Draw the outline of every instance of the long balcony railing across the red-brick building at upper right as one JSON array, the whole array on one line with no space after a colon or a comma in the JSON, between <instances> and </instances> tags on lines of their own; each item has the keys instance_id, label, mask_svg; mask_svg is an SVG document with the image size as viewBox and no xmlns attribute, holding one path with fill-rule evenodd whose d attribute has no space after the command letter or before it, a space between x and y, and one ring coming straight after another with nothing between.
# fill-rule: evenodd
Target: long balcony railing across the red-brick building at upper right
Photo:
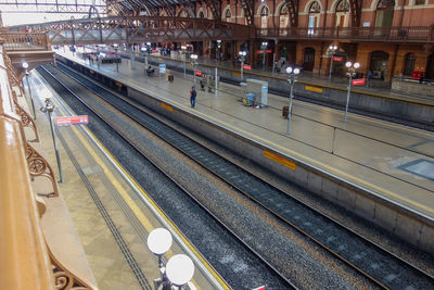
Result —
<instances>
[{"instance_id":1,"label":"long balcony railing across the red-brick building at upper right","mask_svg":"<svg viewBox=\"0 0 434 290\"><path fill-rule=\"evenodd\" d=\"M427 42L434 40L434 28L432 26L257 28L256 37Z\"/></svg>"}]
</instances>

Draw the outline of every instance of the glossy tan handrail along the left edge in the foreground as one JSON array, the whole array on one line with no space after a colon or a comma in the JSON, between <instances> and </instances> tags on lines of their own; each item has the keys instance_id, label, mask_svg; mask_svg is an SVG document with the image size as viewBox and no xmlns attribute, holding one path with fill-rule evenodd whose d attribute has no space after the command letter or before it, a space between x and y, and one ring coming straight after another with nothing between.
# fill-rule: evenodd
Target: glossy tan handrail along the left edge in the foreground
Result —
<instances>
[{"instance_id":1,"label":"glossy tan handrail along the left edge in the foreground","mask_svg":"<svg viewBox=\"0 0 434 290\"><path fill-rule=\"evenodd\" d=\"M2 289L54 289L1 43L0 84L0 285Z\"/></svg>"}]
</instances>

